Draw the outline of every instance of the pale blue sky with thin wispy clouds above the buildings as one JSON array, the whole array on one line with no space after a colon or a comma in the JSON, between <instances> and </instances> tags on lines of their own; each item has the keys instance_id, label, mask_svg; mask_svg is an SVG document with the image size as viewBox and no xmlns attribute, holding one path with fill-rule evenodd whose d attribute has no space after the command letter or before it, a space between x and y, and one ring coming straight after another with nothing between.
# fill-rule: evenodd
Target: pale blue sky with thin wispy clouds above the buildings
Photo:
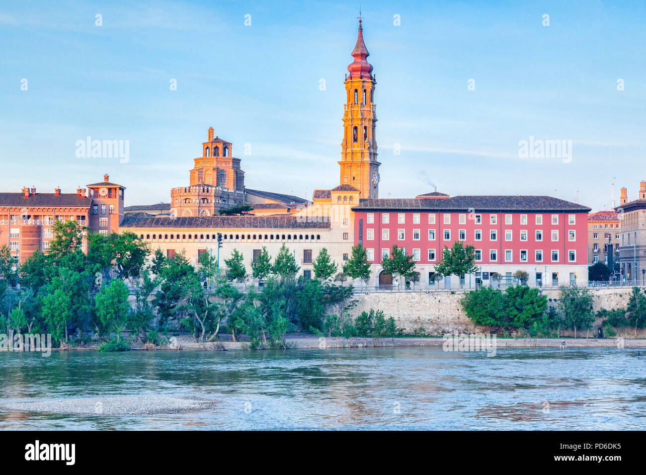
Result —
<instances>
[{"instance_id":1,"label":"pale blue sky with thin wispy clouds above the buildings","mask_svg":"<svg viewBox=\"0 0 646 475\"><path fill-rule=\"evenodd\" d=\"M360 8L380 197L437 187L596 211L612 206L614 183L615 204L623 186L637 198L646 2ZM108 173L126 206L168 202L209 127L233 143L249 188L335 187L358 14L348 1L0 3L0 191L74 192ZM127 162L77 156L88 136L128 141ZM522 156L523 140L565 140L571 154Z\"/></svg>"}]
</instances>

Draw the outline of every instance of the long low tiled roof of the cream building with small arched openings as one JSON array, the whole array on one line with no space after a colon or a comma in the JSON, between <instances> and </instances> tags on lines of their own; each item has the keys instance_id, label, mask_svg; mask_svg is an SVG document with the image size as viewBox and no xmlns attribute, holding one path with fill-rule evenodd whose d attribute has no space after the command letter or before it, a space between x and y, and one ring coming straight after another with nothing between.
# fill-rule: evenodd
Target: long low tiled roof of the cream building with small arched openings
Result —
<instances>
[{"instance_id":1,"label":"long low tiled roof of the cream building with small arched openings","mask_svg":"<svg viewBox=\"0 0 646 475\"><path fill-rule=\"evenodd\" d=\"M182 218L133 218L126 215L120 227L193 229L329 229L329 218L308 220L301 216L183 216Z\"/></svg>"}]
</instances>

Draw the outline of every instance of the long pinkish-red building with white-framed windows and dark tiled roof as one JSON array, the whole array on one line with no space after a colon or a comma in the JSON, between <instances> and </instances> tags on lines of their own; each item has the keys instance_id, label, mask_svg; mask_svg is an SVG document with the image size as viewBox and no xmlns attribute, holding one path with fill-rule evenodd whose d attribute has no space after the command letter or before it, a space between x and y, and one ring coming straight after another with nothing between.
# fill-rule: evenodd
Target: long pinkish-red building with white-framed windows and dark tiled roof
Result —
<instances>
[{"instance_id":1,"label":"long pinkish-red building with white-framed windows and dark tiled roof","mask_svg":"<svg viewBox=\"0 0 646 475\"><path fill-rule=\"evenodd\" d=\"M393 244L417 262L422 288L510 284L517 270L528 284L587 286L589 207L552 196L449 196L434 191L416 198L363 200L355 211L355 244L373 263L374 284L388 285L382 255ZM475 248L481 268L472 276L435 282L435 264L444 246L462 242ZM491 279L496 273L498 279Z\"/></svg>"}]
</instances>

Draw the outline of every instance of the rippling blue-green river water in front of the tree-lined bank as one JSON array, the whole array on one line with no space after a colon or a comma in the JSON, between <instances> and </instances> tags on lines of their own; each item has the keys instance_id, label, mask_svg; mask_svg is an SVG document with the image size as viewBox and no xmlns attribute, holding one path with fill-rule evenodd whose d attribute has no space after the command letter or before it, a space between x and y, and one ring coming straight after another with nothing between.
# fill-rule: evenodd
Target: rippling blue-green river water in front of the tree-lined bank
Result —
<instances>
[{"instance_id":1,"label":"rippling blue-green river water in front of the tree-lined bank","mask_svg":"<svg viewBox=\"0 0 646 475\"><path fill-rule=\"evenodd\" d=\"M0 428L634 430L646 427L645 371L637 350L614 348L513 348L495 357L440 347L0 353L4 402L216 401L207 410L154 416L0 410Z\"/></svg>"}]
</instances>

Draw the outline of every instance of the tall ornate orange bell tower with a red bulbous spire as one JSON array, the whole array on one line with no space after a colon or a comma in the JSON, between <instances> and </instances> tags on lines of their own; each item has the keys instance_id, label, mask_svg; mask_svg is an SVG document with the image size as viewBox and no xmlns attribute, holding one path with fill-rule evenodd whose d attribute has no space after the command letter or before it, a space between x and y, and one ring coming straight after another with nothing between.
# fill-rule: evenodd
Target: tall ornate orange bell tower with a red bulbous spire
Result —
<instances>
[{"instance_id":1,"label":"tall ornate orange bell tower with a red bulbous spire","mask_svg":"<svg viewBox=\"0 0 646 475\"><path fill-rule=\"evenodd\" d=\"M375 76L368 63L370 53L363 41L359 18L359 36L352 50L354 61L346 74L346 104L343 114L343 142L341 142L341 184L357 187L360 198L379 198L379 165L375 127Z\"/></svg>"}]
</instances>

